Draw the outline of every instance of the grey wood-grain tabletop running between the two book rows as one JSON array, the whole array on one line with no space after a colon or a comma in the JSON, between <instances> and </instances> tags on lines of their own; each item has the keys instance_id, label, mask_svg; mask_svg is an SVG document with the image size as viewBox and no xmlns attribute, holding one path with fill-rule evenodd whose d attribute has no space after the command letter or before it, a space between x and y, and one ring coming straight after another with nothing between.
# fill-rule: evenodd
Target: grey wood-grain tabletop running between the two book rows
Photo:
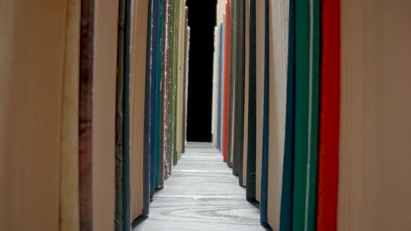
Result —
<instances>
[{"instance_id":1,"label":"grey wood-grain tabletop running between the two book rows","mask_svg":"<svg viewBox=\"0 0 411 231\"><path fill-rule=\"evenodd\" d=\"M188 143L165 187L155 193L150 216L136 230L265 230L245 189L208 143Z\"/></svg>"}]
</instances>

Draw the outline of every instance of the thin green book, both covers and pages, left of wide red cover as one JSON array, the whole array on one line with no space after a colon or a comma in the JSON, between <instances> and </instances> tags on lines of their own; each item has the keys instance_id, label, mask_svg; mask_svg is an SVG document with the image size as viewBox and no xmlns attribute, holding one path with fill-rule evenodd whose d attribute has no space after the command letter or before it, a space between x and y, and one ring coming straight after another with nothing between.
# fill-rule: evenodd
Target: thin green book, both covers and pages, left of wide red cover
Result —
<instances>
[{"instance_id":1,"label":"thin green book, both covers and pages, left of wide red cover","mask_svg":"<svg viewBox=\"0 0 411 231\"><path fill-rule=\"evenodd\" d=\"M320 84L320 3L296 2L293 230L315 230Z\"/></svg>"}]
</instances>

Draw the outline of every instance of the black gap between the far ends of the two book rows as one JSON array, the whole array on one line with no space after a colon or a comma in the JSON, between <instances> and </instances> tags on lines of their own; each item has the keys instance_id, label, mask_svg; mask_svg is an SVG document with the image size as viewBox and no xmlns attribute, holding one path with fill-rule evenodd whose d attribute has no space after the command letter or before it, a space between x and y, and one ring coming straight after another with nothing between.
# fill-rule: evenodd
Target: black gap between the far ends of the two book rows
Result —
<instances>
[{"instance_id":1,"label":"black gap between the far ends of the two book rows","mask_svg":"<svg viewBox=\"0 0 411 231\"><path fill-rule=\"evenodd\" d=\"M187 141L211 141L216 0L187 0L190 27Z\"/></svg>"}]
</instances>

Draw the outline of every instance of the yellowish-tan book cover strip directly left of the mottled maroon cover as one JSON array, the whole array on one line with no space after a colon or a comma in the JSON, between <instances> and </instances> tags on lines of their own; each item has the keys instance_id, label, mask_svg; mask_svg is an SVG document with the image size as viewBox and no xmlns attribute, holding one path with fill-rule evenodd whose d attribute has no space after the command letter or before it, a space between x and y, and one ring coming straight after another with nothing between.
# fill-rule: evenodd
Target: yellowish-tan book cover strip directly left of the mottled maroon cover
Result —
<instances>
[{"instance_id":1,"label":"yellowish-tan book cover strip directly left of the mottled maroon cover","mask_svg":"<svg viewBox=\"0 0 411 231\"><path fill-rule=\"evenodd\" d=\"M61 102L60 230L78 231L79 223L79 0L67 3L65 63Z\"/></svg>"}]
</instances>

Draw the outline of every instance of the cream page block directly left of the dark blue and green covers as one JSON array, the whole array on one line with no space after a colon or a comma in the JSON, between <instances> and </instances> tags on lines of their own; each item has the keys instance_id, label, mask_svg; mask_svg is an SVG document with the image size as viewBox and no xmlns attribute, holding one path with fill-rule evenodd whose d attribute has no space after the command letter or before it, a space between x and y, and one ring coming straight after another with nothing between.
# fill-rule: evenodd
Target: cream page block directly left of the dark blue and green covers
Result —
<instances>
[{"instance_id":1,"label":"cream page block directly left of the dark blue and green covers","mask_svg":"<svg viewBox=\"0 0 411 231\"><path fill-rule=\"evenodd\" d=\"M279 230L286 134L288 0L270 0L270 132L267 218Z\"/></svg>"}]
</instances>

